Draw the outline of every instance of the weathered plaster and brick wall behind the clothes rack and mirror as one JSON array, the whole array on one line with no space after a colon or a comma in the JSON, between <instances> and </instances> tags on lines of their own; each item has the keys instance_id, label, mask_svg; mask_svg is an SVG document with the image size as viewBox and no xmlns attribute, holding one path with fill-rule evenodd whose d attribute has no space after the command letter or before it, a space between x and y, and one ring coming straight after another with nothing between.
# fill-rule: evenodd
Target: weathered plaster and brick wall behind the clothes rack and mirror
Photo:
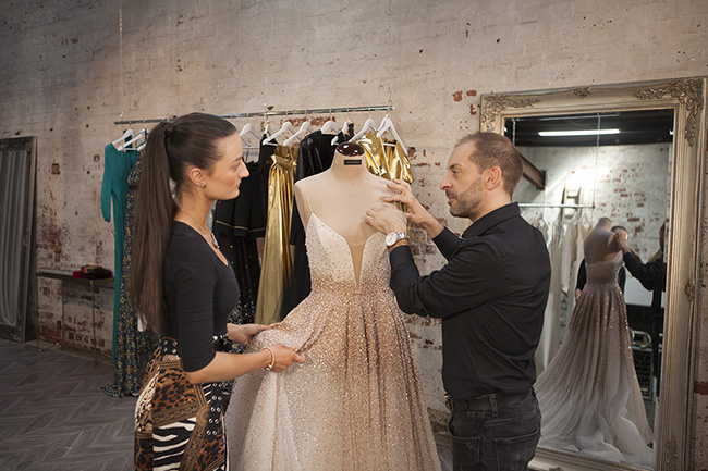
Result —
<instances>
[{"instance_id":1,"label":"weathered plaster and brick wall behind the clothes rack and mirror","mask_svg":"<svg viewBox=\"0 0 708 471\"><path fill-rule=\"evenodd\" d=\"M708 74L705 0L28 0L3 2L0 25L0 137L38 138L37 264L54 269L113 265L99 195L102 149L122 134L113 124L121 117L392 99L416 195L462 232L466 222L449 216L437 186L454 141L478 128L481 94ZM352 114L358 124L368 117ZM705 240L705 219L701 228ZM425 234L413 241L424 273L442 264ZM705 313L708 265L700 274ZM45 338L58 335L58 289L40 282ZM88 346L82 296L70 295L66 309L77 343ZM98 348L110 350L110 296L98 303ZM706 323L703 314L697 405L708 395ZM439 325L415 318L408 325L428 405L442 410ZM708 449L705 409L696 419L694 449ZM708 469L705 453L695 453L693 469Z\"/></svg>"}]
</instances>

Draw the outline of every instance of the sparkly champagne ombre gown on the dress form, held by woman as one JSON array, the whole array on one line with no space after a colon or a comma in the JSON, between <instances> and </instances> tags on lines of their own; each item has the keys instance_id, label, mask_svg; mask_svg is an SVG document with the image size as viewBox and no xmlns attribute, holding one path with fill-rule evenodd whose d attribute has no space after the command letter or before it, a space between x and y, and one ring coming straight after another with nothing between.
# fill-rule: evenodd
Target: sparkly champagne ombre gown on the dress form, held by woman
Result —
<instances>
[{"instance_id":1,"label":"sparkly champagne ombre gown on the dress form, held by woman","mask_svg":"<svg viewBox=\"0 0 708 471\"><path fill-rule=\"evenodd\" d=\"M349 244L313 214L312 292L248 351L276 343L305 356L282 373L235 381L227 410L236 470L439 470L408 332L391 294L383 234ZM358 280L357 280L358 278Z\"/></svg>"}]
</instances>

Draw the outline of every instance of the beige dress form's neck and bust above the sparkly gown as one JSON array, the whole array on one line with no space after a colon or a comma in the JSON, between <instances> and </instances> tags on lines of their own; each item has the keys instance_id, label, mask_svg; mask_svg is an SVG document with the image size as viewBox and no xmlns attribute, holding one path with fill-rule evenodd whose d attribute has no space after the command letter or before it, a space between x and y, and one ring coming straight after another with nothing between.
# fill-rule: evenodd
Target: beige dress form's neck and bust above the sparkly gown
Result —
<instances>
[{"instance_id":1,"label":"beige dress form's neck and bust above the sparkly gown","mask_svg":"<svg viewBox=\"0 0 708 471\"><path fill-rule=\"evenodd\" d=\"M316 214L342 236L349 244L357 277L364 246L376 234L364 216L389 195L387 181L368 171L364 148L355 142L340 144L328 170L295 183L295 203L303 225L306 227Z\"/></svg>"}]
</instances>

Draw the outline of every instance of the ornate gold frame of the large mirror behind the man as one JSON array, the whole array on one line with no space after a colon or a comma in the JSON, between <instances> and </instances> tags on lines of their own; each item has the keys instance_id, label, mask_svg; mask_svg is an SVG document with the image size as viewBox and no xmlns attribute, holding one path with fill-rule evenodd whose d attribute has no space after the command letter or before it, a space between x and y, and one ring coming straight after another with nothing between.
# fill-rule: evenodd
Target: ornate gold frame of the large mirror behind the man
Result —
<instances>
[{"instance_id":1,"label":"ornate gold frame of the large mirror behind the man","mask_svg":"<svg viewBox=\"0 0 708 471\"><path fill-rule=\"evenodd\" d=\"M699 307L700 221L706 215L701 168L706 149L706 77L492 94L481 97L480 131L503 134L504 120L520 116L630 110L674 110L661 400L655 426L655 469L688 470L694 419L694 367ZM538 448L532 469L636 469Z\"/></svg>"}]
</instances>

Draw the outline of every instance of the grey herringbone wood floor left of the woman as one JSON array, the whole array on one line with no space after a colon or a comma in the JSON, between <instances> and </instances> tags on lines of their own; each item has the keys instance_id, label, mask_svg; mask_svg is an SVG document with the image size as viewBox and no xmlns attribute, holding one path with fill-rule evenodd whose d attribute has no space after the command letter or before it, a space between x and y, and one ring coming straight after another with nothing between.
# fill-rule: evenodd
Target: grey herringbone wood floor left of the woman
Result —
<instances>
[{"instance_id":1,"label":"grey herringbone wood floor left of the woman","mask_svg":"<svg viewBox=\"0 0 708 471\"><path fill-rule=\"evenodd\" d=\"M0 470L132 470L136 399L105 395L112 379L110 361L0 339Z\"/></svg>"}]
</instances>

